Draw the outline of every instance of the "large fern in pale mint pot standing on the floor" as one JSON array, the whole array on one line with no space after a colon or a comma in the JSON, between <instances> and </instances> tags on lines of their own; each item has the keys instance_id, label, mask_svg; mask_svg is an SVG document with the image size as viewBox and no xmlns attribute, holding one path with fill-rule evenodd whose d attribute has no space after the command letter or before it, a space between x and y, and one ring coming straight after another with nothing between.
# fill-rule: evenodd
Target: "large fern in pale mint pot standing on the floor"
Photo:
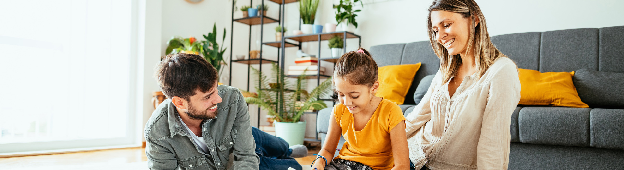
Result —
<instances>
[{"instance_id":1,"label":"large fern in pale mint pot standing on the floor","mask_svg":"<svg viewBox=\"0 0 624 170\"><path fill-rule=\"evenodd\" d=\"M331 78L320 83L310 93L302 90L306 87L306 75L297 77L296 83L286 81L286 75L277 64L273 64L272 81L279 82L277 88L270 88L266 75L259 70L250 67L255 75L260 78L256 82L258 97L245 97L245 102L255 104L268 111L269 116L274 116L275 136L283 138L290 146L303 144L306 123L300 121L301 116L307 110L321 110L327 105L322 100L316 100L319 95L328 93L331 87ZM290 90L289 90L290 89Z\"/></svg>"}]
</instances>

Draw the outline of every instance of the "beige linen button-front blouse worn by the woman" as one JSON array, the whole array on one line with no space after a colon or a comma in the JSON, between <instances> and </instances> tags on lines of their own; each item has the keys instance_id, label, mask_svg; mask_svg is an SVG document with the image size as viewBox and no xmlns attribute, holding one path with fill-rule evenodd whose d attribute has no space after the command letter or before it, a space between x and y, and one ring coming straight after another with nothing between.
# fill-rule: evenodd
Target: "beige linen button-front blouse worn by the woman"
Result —
<instances>
[{"instance_id":1,"label":"beige linen button-front blouse worn by the woman","mask_svg":"<svg viewBox=\"0 0 624 170\"><path fill-rule=\"evenodd\" d=\"M438 71L407 115L409 158L416 169L507 169L511 115L520 102L518 70L500 57L477 78L466 76L449 97L449 83L442 84Z\"/></svg>"}]
</instances>

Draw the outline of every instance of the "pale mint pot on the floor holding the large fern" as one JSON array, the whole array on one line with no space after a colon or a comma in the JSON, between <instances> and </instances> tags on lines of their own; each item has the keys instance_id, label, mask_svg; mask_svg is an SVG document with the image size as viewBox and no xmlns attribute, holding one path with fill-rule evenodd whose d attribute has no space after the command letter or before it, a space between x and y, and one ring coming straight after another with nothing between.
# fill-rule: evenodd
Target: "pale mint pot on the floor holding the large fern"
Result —
<instances>
[{"instance_id":1,"label":"pale mint pot on the floor holding the large fern","mask_svg":"<svg viewBox=\"0 0 624 170\"><path fill-rule=\"evenodd\" d=\"M284 139L288 146L303 144L303 137L306 134L306 122L282 123L273 121L275 126L275 136Z\"/></svg>"}]
</instances>

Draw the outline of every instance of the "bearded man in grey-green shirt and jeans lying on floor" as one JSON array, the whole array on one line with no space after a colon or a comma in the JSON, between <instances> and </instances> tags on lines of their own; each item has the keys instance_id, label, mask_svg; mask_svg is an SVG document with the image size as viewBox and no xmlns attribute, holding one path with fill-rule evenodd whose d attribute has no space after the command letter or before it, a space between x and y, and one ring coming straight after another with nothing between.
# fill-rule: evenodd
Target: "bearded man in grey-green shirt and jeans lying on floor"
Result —
<instances>
[{"instance_id":1,"label":"bearded man in grey-green shirt and jeans lying on floor","mask_svg":"<svg viewBox=\"0 0 624 170\"><path fill-rule=\"evenodd\" d=\"M150 169L301 169L290 156L307 156L305 146L293 150L251 128L241 93L217 85L217 70L200 55L168 55L157 77L168 99L145 125Z\"/></svg>"}]
</instances>

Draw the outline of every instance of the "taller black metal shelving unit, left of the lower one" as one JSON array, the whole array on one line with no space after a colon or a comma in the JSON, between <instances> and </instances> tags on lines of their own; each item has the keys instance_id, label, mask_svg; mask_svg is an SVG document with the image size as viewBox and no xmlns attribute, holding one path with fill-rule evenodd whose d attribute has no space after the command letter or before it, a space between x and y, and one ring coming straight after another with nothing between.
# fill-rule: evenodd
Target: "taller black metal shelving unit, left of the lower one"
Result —
<instances>
[{"instance_id":1,"label":"taller black metal shelving unit, left of the lower one","mask_svg":"<svg viewBox=\"0 0 624 170\"><path fill-rule=\"evenodd\" d=\"M291 3L291 2L297 2L297 0L260 0L261 4L260 6L265 6L265 1L271 1L271 2L275 2L276 4L278 4L280 6L280 11L278 12L279 17L278 19L274 19L272 17L267 17L263 14L263 11L258 10L258 16L253 16L253 17L243 17L243 18L238 18L238 19L234 19L234 12L235 12L235 1L232 1L232 25L230 27L230 34L232 34L232 36L230 36L230 80L229 80L229 85L232 86L232 63L233 62L237 62L237 63L241 63L241 64L247 64L247 91L250 91L250 66L251 64L258 64L259 68L258 70L260 70L260 72L262 72L262 65L263 64L271 64L271 63L280 63L280 52L283 52L283 50L280 51L280 49L284 49L285 47L299 47L301 49L301 45L300 44L293 44L290 42L286 42L283 43L283 36L282 36L282 41L277 41L277 42L263 42L263 33L264 33L264 26L265 24L271 24L271 23L278 23L280 24L280 26L282 27L282 35L284 35L284 11L283 8L285 7L285 4ZM253 0L250 0L249 2L249 6L253 6ZM260 54L258 55L258 59L243 59L243 60L233 60L233 45L234 45L234 22L238 22L241 24L246 24L249 26L249 42L248 42L248 49L247 49L247 54L248 56L250 56L250 52L251 52L251 27L252 26L260 26L260 42L263 42L260 45ZM286 44L286 45L283 45ZM278 57L277 60L269 60L269 59L263 59L262 56L262 52L263 52L263 45L269 45L269 46L273 46L273 47L277 47L277 52L278 52ZM258 78L258 82L260 82L260 78ZM261 108L258 107L258 128L260 128L260 111Z\"/></svg>"}]
</instances>

